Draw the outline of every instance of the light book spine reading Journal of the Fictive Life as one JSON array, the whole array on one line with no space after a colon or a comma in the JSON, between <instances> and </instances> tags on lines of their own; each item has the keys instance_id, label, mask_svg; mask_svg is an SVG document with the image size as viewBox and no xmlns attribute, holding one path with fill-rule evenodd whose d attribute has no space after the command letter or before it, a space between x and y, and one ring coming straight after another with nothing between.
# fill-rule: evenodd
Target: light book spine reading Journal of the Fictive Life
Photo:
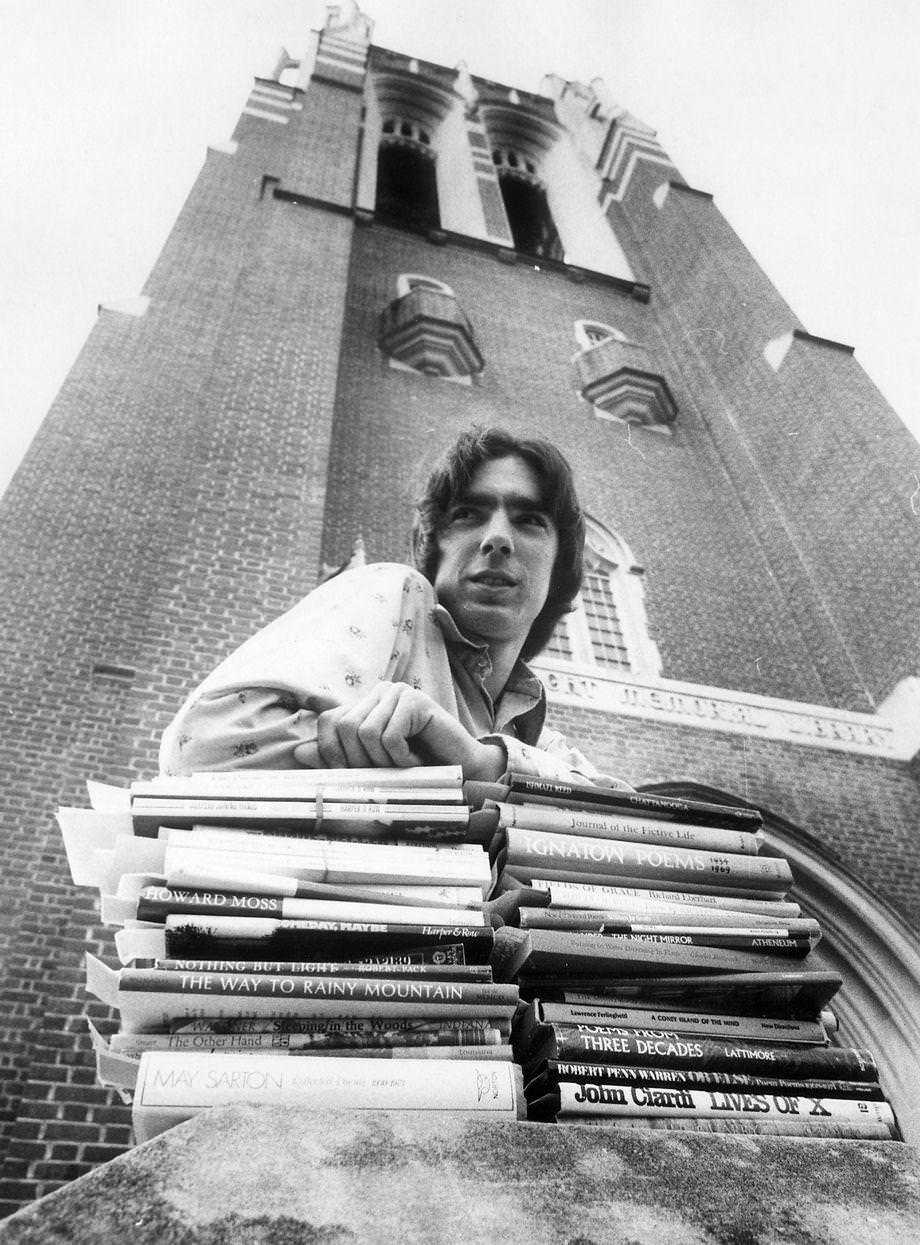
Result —
<instances>
[{"instance_id":1,"label":"light book spine reading Journal of the Fictive Life","mask_svg":"<svg viewBox=\"0 0 920 1245\"><path fill-rule=\"evenodd\" d=\"M550 830L556 834L583 834L595 839L655 843L743 855L757 855L761 847L761 839L756 834L726 830L715 825L692 825L646 817L617 817L613 813L583 813L539 804L498 803L495 807L502 829L518 827L528 830Z\"/></svg>"}]
</instances>

